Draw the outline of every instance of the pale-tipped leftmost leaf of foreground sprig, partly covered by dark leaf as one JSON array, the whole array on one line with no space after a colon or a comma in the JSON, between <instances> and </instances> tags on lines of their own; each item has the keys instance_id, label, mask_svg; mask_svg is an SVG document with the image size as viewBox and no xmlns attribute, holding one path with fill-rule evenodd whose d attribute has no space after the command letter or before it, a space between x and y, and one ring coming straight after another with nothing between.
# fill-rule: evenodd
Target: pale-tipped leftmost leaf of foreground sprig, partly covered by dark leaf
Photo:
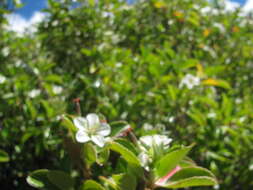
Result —
<instances>
[{"instance_id":1,"label":"pale-tipped leftmost leaf of foreground sprig, partly covered by dark leaf","mask_svg":"<svg viewBox=\"0 0 253 190\"><path fill-rule=\"evenodd\" d=\"M58 190L59 188L57 188L55 185L53 185L48 177L49 170L47 169L40 169L40 170L36 170L33 171L27 178L26 181L29 185L31 185L32 187L38 188L38 189L54 189L54 190Z\"/></svg>"}]
</instances>

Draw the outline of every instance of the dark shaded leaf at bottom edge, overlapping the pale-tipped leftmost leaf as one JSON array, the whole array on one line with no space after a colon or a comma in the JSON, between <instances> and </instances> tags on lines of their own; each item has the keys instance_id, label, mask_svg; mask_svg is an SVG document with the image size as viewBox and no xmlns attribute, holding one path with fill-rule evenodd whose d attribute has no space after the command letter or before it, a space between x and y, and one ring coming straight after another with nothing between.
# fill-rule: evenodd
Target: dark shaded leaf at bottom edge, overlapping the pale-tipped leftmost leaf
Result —
<instances>
[{"instance_id":1,"label":"dark shaded leaf at bottom edge, overlapping the pale-tipped leftmost leaf","mask_svg":"<svg viewBox=\"0 0 253 190\"><path fill-rule=\"evenodd\" d=\"M62 190L72 190L74 188L74 181L69 174L63 171L49 171L47 173L49 181Z\"/></svg>"}]
</instances>

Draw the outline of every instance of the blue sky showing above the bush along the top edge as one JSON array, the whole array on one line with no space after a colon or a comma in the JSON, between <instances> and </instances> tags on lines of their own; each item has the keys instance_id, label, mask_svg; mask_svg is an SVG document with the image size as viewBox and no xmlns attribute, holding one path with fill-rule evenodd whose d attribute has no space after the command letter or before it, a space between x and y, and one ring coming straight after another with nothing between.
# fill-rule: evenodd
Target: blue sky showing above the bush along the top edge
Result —
<instances>
[{"instance_id":1,"label":"blue sky showing above the bush along the top edge","mask_svg":"<svg viewBox=\"0 0 253 190\"><path fill-rule=\"evenodd\" d=\"M247 0L231 0L231 1L238 2L243 5ZM25 6L17 10L16 13L20 14L26 19L31 18L34 12L45 8L47 5L47 0L22 0L22 2L25 4Z\"/></svg>"}]
</instances>

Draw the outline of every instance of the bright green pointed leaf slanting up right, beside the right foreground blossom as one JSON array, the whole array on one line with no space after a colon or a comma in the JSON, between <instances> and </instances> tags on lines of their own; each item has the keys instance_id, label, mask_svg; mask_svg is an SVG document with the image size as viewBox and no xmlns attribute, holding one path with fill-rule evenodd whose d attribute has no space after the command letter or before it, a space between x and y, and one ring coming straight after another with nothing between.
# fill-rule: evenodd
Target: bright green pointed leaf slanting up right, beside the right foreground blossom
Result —
<instances>
[{"instance_id":1,"label":"bright green pointed leaf slanting up right, beside the right foreground blossom","mask_svg":"<svg viewBox=\"0 0 253 190\"><path fill-rule=\"evenodd\" d=\"M158 178L165 176L174 169L192 149L193 145L172 151L161 158L155 165Z\"/></svg>"}]
</instances>

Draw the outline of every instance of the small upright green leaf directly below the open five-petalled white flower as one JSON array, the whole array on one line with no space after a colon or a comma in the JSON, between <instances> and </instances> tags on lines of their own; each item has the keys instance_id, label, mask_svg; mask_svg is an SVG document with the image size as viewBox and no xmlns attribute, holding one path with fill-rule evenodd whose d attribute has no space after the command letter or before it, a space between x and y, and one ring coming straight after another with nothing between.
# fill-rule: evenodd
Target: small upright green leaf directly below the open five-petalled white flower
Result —
<instances>
[{"instance_id":1,"label":"small upright green leaf directly below the open five-petalled white flower","mask_svg":"<svg viewBox=\"0 0 253 190\"><path fill-rule=\"evenodd\" d=\"M88 165L92 165L97 160L97 151L91 143L83 145L82 158Z\"/></svg>"}]
</instances>

